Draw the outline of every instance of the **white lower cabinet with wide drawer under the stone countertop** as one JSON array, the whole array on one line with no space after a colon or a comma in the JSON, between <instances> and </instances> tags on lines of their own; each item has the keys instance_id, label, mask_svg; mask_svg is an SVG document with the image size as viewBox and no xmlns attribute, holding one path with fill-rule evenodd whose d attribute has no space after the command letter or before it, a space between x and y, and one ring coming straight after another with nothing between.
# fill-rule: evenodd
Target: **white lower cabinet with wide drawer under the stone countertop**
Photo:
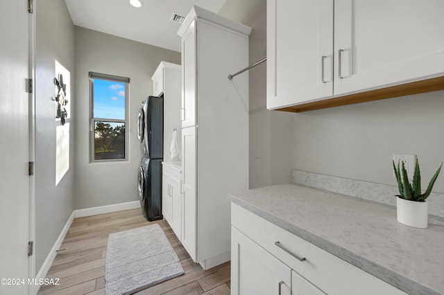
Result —
<instances>
[{"instance_id":1,"label":"white lower cabinet with wide drawer under the stone countertop","mask_svg":"<svg viewBox=\"0 0 444 295\"><path fill-rule=\"evenodd\" d=\"M407 295L233 204L231 295Z\"/></svg>"}]
</instances>

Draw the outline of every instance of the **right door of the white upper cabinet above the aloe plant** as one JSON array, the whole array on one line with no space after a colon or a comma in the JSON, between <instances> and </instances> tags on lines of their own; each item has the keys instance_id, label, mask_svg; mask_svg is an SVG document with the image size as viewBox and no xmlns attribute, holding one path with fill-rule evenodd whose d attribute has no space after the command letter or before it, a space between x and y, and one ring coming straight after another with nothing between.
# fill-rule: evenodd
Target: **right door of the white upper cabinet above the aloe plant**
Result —
<instances>
[{"instance_id":1,"label":"right door of the white upper cabinet above the aloe plant","mask_svg":"<svg viewBox=\"0 0 444 295\"><path fill-rule=\"evenodd\" d=\"M334 1L334 94L443 75L443 11L441 0Z\"/></svg>"}]
</instances>

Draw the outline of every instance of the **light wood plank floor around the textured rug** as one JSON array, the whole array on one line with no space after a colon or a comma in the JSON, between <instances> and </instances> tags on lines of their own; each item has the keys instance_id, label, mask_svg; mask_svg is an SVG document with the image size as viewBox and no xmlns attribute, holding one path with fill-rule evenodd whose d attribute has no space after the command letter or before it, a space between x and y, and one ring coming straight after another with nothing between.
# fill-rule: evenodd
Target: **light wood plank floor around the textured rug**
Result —
<instances>
[{"instance_id":1,"label":"light wood plank floor around the textured rug","mask_svg":"<svg viewBox=\"0 0 444 295\"><path fill-rule=\"evenodd\" d=\"M110 233L159 224L178 254L185 274L149 287L137 295L230 294L230 262L204 271L185 251L164 220L148 222L140 209L76 218L63 240L46 278L60 278L60 285L42 286L44 294L105 294L106 244Z\"/></svg>"}]
</instances>

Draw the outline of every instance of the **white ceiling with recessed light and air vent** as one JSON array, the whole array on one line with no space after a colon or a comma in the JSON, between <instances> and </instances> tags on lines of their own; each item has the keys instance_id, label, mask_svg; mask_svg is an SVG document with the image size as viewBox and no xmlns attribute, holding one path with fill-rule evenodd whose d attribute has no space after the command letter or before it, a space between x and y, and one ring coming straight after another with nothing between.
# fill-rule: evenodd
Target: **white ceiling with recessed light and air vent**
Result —
<instances>
[{"instance_id":1,"label":"white ceiling with recessed light and air vent","mask_svg":"<svg viewBox=\"0 0 444 295\"><path fill-rule=\"evenodd\" d=\"M98 30L137 42L180 51L180 24L170 21L173 12L187 16L193 5L218 12L226 0L65 0L76 26Z\"/></svg>"}]
</instances>

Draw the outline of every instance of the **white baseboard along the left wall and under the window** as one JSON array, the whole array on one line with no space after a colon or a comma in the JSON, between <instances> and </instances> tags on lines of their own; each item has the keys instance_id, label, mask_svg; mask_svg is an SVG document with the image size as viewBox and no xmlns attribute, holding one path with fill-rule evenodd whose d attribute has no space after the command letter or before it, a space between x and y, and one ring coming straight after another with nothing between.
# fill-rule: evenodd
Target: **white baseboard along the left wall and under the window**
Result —
<instances>
[{"instance_id":1,"label":"white baseboard along the left wall and under the window","mask_svg":"<svg viewBox=\"0 0 444 295\"><path fill-rule=\"evenodd\" d=\"M48 256L44 260L43 265L42 265L42 267L40 267L40 271L38 272L38 274L35 278L37 280L40 278L42 278L42 279L46 278L46 274L48 274L49 268L53 264L54 258L56 258L56 255L57 255L56 250L58 250L60 248L60 245L62 244L63 239L65 239L65 235L67 235L67 232L69 230L69 226L71 226L72 222L74 221L74 218L99 215L99 214L103 214L103 213L111 213L111 212L117 212L117 211L123 211L123 210L130 210L130 209L135 209L135 208L140 208L139 201L74 210L73 213L71 214L71 216L69 216L67 223L63 227L62 232L60 232L60 235L58 236L56 242L54 243L51 251L49 251ZM35 289L33 290L33 294L37 294L39 289L40 289L40 286L35 285Z\"/></svg>"}]
</instances>

